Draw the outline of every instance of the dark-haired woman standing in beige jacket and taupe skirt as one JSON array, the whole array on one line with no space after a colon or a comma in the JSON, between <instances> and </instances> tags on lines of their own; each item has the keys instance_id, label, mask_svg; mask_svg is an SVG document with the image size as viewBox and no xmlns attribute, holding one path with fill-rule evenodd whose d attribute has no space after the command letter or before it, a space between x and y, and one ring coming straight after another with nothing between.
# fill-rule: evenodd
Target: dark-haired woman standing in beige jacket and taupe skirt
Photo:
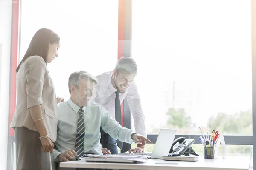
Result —
<instances>
[{"instance_id":1,"label":"dark-haired woman standing in beige jacket and taupe skirt","mask_svg":"<svg viewBox=\"0 0 256 170\"><path fill-rule=\"evenodd\" d=\"M16 69L17 104L11 127L15 129L17 170L54 167L49 154L56 141L57 100L47 63L58 57L59 43L60 37L52 30L38 30Z\"/></svg>"}]
</instances>

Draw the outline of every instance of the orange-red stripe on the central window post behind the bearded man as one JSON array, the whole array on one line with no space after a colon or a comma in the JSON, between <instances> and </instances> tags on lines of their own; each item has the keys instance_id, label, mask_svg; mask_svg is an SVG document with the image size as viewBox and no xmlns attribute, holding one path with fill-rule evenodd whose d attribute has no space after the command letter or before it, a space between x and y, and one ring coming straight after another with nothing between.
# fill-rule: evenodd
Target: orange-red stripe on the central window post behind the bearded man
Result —
<instances>
[{"instance_id":1,"label":"orange-red stripe on the central window post behind the bearded man","mask_svg":"<svg viewBox=\"0 0 256 170\"><path fill-rule=\"evenodd\" d=\"M124 39L125 39L125 0L118 1L118 50L117 59L124 57ZM121 104L121 120L123 126L124 105Z\"/></svg>"}]
</instances>

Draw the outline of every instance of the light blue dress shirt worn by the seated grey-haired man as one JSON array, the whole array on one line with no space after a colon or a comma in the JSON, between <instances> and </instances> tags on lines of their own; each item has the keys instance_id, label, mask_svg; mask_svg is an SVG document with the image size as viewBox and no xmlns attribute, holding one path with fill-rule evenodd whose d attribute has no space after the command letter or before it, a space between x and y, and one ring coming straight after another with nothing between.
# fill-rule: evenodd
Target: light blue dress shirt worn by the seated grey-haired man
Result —
<instances>
[{"instance_id":1,"label":"light blue dress shirt worn by the seated grey-haired man","mask_svg":"<svg viewBox=\"0 0 256 170\"><path fill-rule=\"evenodd\" d=\"M75 150L77 120L80 107L72 102L71 99L57 105L58 127L57 140L55 142L54 159L66 150ZM131 139L133 130L122 127L116 122L108 111L96 102L90 101L84 109L84 151L85 153L102 154L100 144L100 127L113 139L127 143L134 143Z\"/></svg>"}]
</instances>

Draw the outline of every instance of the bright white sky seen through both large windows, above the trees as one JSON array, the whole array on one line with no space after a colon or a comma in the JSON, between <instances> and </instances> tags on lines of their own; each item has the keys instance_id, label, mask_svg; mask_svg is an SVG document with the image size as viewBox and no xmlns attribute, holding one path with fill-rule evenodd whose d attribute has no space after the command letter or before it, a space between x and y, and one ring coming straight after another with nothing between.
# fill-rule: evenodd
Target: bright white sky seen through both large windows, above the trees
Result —
<instances>
[{"instance_id":1,"label":"bright white sky seen through both large windows, above the trees","mask_svg":"<svg viewBox=\"0 0 256 170\"><path fill-rule=\"evenodd\" d=\"M73 71L113 70L118 0L23 0L21 7L21 57L38 29L61 37L48 65L58 96L69 98ZM135 81L148 127L166 122L173 81L175 106L198 126L218 112L251 108L250 0L134 0L132 8Z\"/></svg>"}]
</instances>

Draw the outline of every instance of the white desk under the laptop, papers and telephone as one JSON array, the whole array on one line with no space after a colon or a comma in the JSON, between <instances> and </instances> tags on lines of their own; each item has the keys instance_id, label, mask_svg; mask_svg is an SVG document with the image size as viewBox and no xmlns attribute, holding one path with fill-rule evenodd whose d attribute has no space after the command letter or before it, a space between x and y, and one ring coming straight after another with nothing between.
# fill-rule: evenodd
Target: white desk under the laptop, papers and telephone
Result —
<instances>
[{"instance_id":1,"label":"white desk under the laptop, papers and telephone","mask_svg":"<svg viewBox=\"0 0 256 170\"><path fill-rule=\"evenodd\" d=\"M226 156L225 159L204 159L199 156L196 162L174 161L174 164L155 164L161 159L149 159L143 164L120 164L120 163L92 163L86 161L61 162L61 168L99 168L99 169L126 169L126 170L248 170L250 156ZM209 168L209 169L208 169Z\"/></svg>"}]
</instances>

